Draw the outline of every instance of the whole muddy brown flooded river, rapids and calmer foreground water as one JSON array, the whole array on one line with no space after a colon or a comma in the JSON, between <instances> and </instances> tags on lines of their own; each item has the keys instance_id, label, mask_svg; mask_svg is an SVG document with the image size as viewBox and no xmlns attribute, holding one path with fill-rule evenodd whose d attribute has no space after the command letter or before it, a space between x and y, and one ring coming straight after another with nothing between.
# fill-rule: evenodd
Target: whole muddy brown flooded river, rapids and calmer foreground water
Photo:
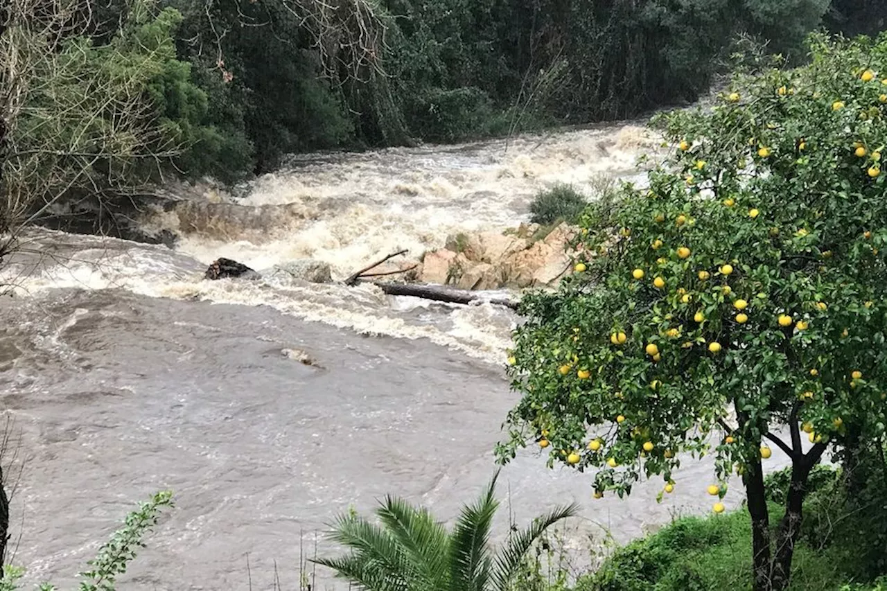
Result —
<instances>
[{"instance_id":1,"label":"whole muddy brown flooded river, rapids and calmer foreground water","mask_svg":"<svg viewBox=\"0 0 887 591\"><path fill-rule=\"evenodd\" d=\"M132 503L166 488L177 507L122 588L272 589L279 579L299 589L301 563L333 551L323 532L349 507L366 512L396 493L458 515L492 476L516 401L503 371L512 311L202 272L219 256L260 271L310 257L341 280L401 248L419 256L453 232L518 225L555 182L642 178L634 162L656 146L632 123L312 154L236 199L201 196L246 206L248 223L146 219L183 236L174 249L31 232L3 270L12 296L0 299L13 562L29 581L72 587ZM773 467L784 461L774 450ZM577 563L610 537L630 540L712 502L707 460L688 458L661 504L662 482L593 500L589 475L544 464L527 450L503 470L497 538L509 514L527 523L576 500L582 518L564 536ZM728 507L742 498L733 485ZM345 588L323 569L301 574L317 589Z\"/></svg>"}]
</instances>

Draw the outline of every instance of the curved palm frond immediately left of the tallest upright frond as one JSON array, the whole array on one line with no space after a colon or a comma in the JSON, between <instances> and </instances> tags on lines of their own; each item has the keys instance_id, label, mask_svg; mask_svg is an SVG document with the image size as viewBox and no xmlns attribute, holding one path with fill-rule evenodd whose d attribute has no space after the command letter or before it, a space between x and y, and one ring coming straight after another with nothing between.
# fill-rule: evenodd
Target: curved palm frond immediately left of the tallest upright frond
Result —
<instances>
[{"instance_id":1,"label":"curved palm frond immediately left of the tallest upright frond","mask_svg":"<svg viewBox=\"0 0 887 591\"><path fill-rule=\"evenodd\" d=\"M411 591L447 589L449 536L425 508L388 496L376 509L387 534L401 548L416 574Z\"/></svg>"}]
</instances>

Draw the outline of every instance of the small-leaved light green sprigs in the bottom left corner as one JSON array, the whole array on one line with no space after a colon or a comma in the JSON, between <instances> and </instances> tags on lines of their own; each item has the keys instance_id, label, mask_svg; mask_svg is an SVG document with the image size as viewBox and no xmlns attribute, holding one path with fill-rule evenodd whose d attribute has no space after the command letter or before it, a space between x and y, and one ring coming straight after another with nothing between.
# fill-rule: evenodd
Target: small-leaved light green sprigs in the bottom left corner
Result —
<instances>
[{"instance_id":1,"label":"small-leaved light green sprigs in the bottom left corner","mask_svg":"<svg viewBox=\"0 0 887 591\"><path fill-rule=\"evenodd\" d=\"M123 527L98 548L98 556L89 562L90 570L80 573L82 582L77 587L79 591L114 591L117 577L126 572L127 565L136 558L137 548L145 548L142 540L157 524L161 510L172 506L170 491L154 493L150 500L139 503L138 508L126 516ZM18 580L24 574L23 568L5 564L0 591L18 589ZM56 587L43 583L38 589L55 591Z\"/></svg>"}]
</instances>

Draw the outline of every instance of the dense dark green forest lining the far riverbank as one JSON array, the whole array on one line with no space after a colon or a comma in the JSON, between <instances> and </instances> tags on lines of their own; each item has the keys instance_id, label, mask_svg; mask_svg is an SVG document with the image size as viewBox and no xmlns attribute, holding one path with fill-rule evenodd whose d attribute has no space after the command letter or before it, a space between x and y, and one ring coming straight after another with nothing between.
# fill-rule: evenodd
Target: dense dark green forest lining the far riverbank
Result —
<instances>
[{"instance_id":1,"label":"dense dark green forest lining the far riverbank","mask_svg":"<svg viewBox=\"0 0 887 591\"><path fill-rule=\"evenodd\" d=\"M695 100L740 50L797 62L808 32L885 17L876 0L10 0L3 218L234 183L295 152L631 117Z\"/></svg>"}]
</instances>

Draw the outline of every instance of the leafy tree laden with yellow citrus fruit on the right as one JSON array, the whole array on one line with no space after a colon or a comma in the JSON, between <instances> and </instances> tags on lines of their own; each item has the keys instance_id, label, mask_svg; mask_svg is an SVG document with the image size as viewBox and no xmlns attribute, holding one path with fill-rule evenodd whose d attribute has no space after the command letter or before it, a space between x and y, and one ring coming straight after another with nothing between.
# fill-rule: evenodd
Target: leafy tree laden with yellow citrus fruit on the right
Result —
<instances>
[{"instance_id":1,"label":"leafy tree laden with yellow citrus fruit on the right","mask_svg":"<svg viewBox=\"0 0 887 591\"><path fill-rule=\"evenodd\" d=\"M648 186L586 210L574 272L522 303L497 449L538 444L597 497L641 477L670 493L688 454L712 454L715 512L742 477L756 589L788 585L812 467L883 437L887 404L887 37L811 47L807 67L663 116ZM792 482L771 532L774 453Z\"/></svg>"}]
</instances>

